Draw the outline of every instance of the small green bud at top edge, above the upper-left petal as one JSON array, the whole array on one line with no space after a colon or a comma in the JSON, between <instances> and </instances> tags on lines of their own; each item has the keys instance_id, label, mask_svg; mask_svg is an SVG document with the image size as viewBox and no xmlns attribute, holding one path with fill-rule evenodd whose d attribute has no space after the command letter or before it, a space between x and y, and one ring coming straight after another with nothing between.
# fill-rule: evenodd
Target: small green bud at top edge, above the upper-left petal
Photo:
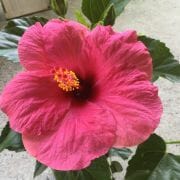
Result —
<instances>
[{"instance_id":1,"label":"small green bud at top edge, above the upper-left petal","mask_svg":"<svg viewBox=\"0 0 180 180\"><path fill-rule=\"evenodd\" d=\"M59 16L65 17L68 9L67 0L51 0L52 10Z\"/></svg>"}]
</instances>

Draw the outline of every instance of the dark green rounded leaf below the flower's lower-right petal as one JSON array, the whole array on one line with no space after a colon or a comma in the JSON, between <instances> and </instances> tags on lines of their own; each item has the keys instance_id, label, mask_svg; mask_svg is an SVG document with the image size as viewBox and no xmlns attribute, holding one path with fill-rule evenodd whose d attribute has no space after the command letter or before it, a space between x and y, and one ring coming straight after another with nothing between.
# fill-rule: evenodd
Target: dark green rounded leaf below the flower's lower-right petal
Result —
<instances>
[{"instance_id":1,"label":"dark green rounded leaf below the flower's lower-right petal","mask_svg":"<svg viewBox=\"0 0 180 180\"><path fill-rule=\"evenodd\" d=\"M165 152L166 144L163 139L156 134L151 135L147 141L138 146L135 155L129 161L126 179L144 178L143 180L146 180L163 158Z\"/></svg>"}]
</instances>

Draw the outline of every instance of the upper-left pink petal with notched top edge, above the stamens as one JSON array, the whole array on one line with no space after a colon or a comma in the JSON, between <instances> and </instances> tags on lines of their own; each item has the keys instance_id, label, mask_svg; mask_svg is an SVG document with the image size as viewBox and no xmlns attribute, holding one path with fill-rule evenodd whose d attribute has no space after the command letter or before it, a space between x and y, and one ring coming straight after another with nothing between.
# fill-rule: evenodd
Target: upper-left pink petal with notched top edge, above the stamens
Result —
<instances>
[{"instance_id":1,"label":"upper-left pink petal with notched top edge, above the stamens","mask_svg":"<svg viewBox=\"0 0 180 180\"><path fill-rule=\"evenodd\" d=\"M54 19L43 27L36 23L19 42L20 62L27 70L68 68L78 60L87 32L85 26L73 21Z\"/></svg>"}]
</instances>

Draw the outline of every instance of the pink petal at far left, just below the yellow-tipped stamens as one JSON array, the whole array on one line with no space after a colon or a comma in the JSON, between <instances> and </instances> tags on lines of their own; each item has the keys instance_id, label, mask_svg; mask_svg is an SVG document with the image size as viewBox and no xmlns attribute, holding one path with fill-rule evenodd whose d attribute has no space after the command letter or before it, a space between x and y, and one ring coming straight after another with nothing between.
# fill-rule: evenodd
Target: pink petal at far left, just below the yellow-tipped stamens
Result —
<instances>
[{"instance_id":1,"label":"pink petal at far left, just below the yellow-tipped stamens","mask_svg":"<svg viewBox=\"0 0 180 180\"><path fill-rule=\"evenodd\" d=\"M39 74L19 73L0 96L0 108L17 132L39 135L55 131L69 110L70 100L53 77Z\"/></svg>"}]
</instances>

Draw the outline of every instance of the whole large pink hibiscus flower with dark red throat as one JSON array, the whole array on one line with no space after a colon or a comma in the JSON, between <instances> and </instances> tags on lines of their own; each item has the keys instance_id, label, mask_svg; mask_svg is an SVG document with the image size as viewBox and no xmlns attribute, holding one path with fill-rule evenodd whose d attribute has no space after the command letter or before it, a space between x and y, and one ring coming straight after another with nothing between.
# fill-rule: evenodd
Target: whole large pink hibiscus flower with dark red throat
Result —
<instances>
[{"instance_id":1,"label":"whole large pink hibiscus flower with dark red throat","mask_svg":"<svg viewBox=\"0 0 180 180\"><path fill-rule=\"evenodd\" d=\"M54 19L31 26L18 51L25 70L0 107L41 163L79 170L111 147L142 143L159 124L152 59L135 31Z\"/></svg>"}]
</instances>

